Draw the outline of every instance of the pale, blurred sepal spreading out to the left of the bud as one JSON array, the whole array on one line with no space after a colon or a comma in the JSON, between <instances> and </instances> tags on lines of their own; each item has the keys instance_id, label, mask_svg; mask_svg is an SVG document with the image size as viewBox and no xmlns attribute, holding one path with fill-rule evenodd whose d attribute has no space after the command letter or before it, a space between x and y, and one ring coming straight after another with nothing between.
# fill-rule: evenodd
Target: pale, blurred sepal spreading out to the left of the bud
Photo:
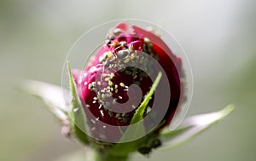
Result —
<instances>
[{"instance_id":1,"label":"pale, blurred sepal spreading out to the left of the bud","mask_svg":"<svg viewBox=\"0 0 256 161\"><path fill-rule=\"evenodd\" d=\"M63 94L68 93L67 89L61 89L60 86L34 80L24 81L21 88L28 94L44 101L49 107L49 111L56 118L59 118L61 121L67 120L67 104L63 98Z\"/></svg>"}]
</instances>

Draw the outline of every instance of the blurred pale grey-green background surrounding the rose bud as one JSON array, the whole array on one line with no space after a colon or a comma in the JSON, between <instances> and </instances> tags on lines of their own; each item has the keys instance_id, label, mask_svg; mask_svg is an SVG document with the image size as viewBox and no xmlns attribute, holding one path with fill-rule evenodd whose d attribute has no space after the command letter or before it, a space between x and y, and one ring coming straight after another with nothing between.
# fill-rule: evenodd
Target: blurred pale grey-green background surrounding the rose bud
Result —
<instances>
[{"instance_id":1,"label":"blurred pale grey-green background surrounding the rose bud","mask_svg":"<svg viewBox=\"0 0 256 161\"><path fill-rule=\"evenodd\" d=\"M23 78L60 84L74 41L121 18L149 20L182 44L195 79L188 115L236 104L235 112L188 144L135 160L255 160L255 0L1 0L0 160L52 161L83 148L61 135L41 101L15 87Z\"/></svg>"}]
</instances>

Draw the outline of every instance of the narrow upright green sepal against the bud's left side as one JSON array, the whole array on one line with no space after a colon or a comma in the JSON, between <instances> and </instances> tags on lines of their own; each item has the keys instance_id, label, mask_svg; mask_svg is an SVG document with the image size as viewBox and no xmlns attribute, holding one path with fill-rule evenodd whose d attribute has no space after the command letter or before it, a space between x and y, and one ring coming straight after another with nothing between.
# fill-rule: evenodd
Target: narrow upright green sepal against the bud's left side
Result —
<instances>
[{"instance_id":1,"label":"narrow upright green sepal against the bud's left side","mask_svg":"<svg viewBox=\"0 0 256 161\"><path fill-rule=\"evenodd\" d=\"M84 133L84 131L86 131L84 108L79 100L79 96L77 95L76 85L68 62L67 68L69 74L70 95L72 96L71 110L68 112L70 123L73 127L73 133L79 138L79 140L84 142L84 144L89 144L88 136Z\"/></svg>"}]
</instances>

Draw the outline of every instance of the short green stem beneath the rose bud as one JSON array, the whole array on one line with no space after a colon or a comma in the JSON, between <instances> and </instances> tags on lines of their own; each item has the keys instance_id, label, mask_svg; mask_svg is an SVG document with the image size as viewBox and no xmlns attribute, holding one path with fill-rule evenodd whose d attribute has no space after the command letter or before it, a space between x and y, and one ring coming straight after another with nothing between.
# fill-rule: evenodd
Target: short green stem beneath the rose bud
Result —
<instances>
[{"instance_id":1,"label":"short green stem beneath the rose bud","mask_svg":"<svg viewBox=\"0 0 256 161\"><path fill-rule=\"evenodd\" d=\"M128 161L128 155L113 155L108 152L94 151L95 161Z\"/></svg>"}]
</instances>

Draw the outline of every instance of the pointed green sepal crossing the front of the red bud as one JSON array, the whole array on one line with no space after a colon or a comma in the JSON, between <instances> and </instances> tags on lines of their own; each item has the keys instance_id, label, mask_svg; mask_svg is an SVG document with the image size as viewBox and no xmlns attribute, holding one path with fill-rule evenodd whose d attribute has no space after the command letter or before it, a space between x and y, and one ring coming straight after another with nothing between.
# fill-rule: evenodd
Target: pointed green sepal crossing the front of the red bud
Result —
<instances>
[{"instance_id":1,"label":"pointed green sepal crossing the front of the red bud","mask_svg":"<svg viewBox=\"0 0 256 161\"><path fill-rule=\"evenodd\" d=\"M162 77L162 73L159 72L158 76L154 80L154 83L151 89L148 92L148 95L145 96L145 99L143 100L141 105L137 108L137 111L134 113L133 117L131 118L130 126L128 126L128 128L123 133L120 139L120 142L125 142L126 138L133 138L133 136L137 134L140 134L140 135L145 134L144 124L143 122L140 122L140 121L143 119L143 114L147 109L148 102L150 101L150 98L154 94L154 90L157 87L158 83L160 82L161 77ZM137 123L135 127L131 125L135 123Z\"/></svg>"}]
</instances>

